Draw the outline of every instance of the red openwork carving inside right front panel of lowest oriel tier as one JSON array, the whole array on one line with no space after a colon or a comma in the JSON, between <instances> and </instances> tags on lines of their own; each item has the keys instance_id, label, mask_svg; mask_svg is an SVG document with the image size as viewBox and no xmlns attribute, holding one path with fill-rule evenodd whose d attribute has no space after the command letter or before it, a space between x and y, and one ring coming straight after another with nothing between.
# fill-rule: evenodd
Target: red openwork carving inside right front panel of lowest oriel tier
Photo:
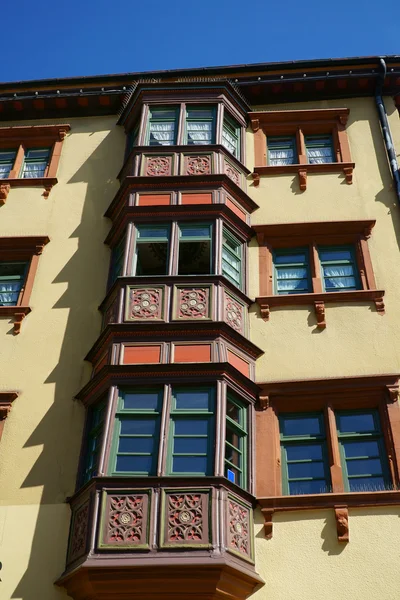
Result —
<instances>
[{"instance_id":1,"label":"red openwork carving inside right front panel of lowest oriel tier","mask_svg":"<svg viewBox=\"0 0 400 600\"><path fill-rule=\"evenodd\" d=\"M168 496L168 542L203 541L203 510L201 494L171 494Z\"/></svg>"}]
</instances>

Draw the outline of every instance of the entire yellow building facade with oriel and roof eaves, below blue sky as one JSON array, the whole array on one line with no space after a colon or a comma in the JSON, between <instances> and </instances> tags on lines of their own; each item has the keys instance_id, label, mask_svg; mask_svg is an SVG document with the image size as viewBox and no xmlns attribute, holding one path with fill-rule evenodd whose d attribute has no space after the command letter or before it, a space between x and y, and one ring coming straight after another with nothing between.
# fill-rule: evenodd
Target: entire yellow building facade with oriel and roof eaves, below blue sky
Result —
<instances>
[{"instance_id":1,"label":"entire yellow building facade with oriel and roof eaves, below blue sky","mask_svg":"<svg viewBox=\"0 0 400 600\"><path fill-rule=\"evenodd\" d=\"M398 597L399 99L0 85L1 597Z\"/></svg>"}]
</instances>

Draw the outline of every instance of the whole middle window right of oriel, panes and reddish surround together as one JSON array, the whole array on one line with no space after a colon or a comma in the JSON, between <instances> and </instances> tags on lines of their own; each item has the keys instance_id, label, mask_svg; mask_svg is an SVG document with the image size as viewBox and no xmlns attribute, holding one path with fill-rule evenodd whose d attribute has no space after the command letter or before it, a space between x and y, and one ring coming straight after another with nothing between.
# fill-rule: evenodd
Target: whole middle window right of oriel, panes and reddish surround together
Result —
<instances>
[{"instance_id":1,"label":"whole middle window right of oriel, panes and reddish surround together","mask_svg":"<svg viewBox=\"0 0 400 600\"><path fill-rule=\"evenodd\" d=\"M373 301L376 289L367 239L375 221L255 225L260 246L261 316L270 308L314 304L317 326L326 327L327 302Z\"/></svg>"}]
</instances>

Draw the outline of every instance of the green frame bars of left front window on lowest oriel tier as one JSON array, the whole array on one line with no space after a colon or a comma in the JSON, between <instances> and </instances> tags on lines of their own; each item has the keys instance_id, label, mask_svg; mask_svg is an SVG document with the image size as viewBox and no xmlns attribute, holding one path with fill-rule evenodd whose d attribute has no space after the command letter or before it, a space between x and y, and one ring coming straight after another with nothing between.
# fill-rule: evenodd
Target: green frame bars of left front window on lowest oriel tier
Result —
<instances>
[{"instance_id":1,"label":"green frame bars of left front window on lowest oriel tier","mask_svg":"<svg viewBox=\"0 0 400 600\"><path fill-rule=\"evenodd\" d=\"M158 404L157 408L152 409L131 409L124 408L124 395L125 394L140 394L141 392L146 393L157 393ZM111 443L108 474L111 476L124 477L124 476L150 476L157 474L158 455L160 451L160 434L161 434L161 414L164 402L164 388L163 387L148 387L148 388L120 388L117 410L115 413L115 424L113 439ZM155 418L155 431L156 434L121 434L121 424L124 420L140 420L141 418L154 417ZM118 452L119 440L121 435L127 437L154 437L154 449L155 451L151 454L148 452ZM147 471L117 471L117 459L121 455L132 455L132 456L152 456L151 470Z\"/></svg>"}]
</instances>

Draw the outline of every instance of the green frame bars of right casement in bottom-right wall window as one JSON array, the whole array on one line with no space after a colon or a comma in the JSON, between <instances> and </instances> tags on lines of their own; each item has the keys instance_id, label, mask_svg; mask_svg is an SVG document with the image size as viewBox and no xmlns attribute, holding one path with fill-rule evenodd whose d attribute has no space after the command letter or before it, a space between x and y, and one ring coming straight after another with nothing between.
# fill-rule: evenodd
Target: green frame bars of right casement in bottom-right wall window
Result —
<instances>
[{"instance_id":1,"label":"green frame bars of right casement in bottom-right wall window","mask_svg":"<svg viewBox=\"0 0 400 600\"><path fill-rule=\"evenodd\" d=\"M339 429L339 418L342 415L365 415L365 414L371 414L373 417L373 421L374 421L374 425L375 428L371 431L368 432L351 432L351 433L341 433L340 429ZM383 436L383 432L382 432L382 427L381 427L381 422L380 422L380 417L379 417L379 411L378 409L368 409L368 410L338 410L335 411L335 417L336 417L336 429L337 429L337 435L338 435L338 441L339 441L339 451L340 451L340 459L341 459L341 464L342 464L342 473L343 473L343 483L344 483L344 488L346 492L356 492L356 491L375 491L376 488L364 488L364 489L359 489L359 490L351 490L350 489L350 480L351 479L356 479L356 478L367 478L367 477L374 477L374 474L364 474L364 475L349 475L348 474L348 469L347 469L347 461L348 460L360 460L360 459L367 459L367 458L379 458L381 461L381 465L382 465L382 475L379 474L379 476L382 476L383 480L384 480L384 488L383 489L391 489L391 477L390 477L390 470L389 470L389 464L388 464L388 458L387 458L387 450L386 450L386 446L385 446L385 440L384 440L384 436ZM378 444L378 448L379 448L379 455L378 457L368 457L368 456L358 456L358 457L351 457L351 458L347 458L346 457L346 453L345 453L345 448L344 448L344 443L347 442L353 442L353 441L376 441ZM377 474L375 474L375 476L377 476ZM381 488L379 488L379 490L381 490Z\"/></svg>"}]
</instances>

